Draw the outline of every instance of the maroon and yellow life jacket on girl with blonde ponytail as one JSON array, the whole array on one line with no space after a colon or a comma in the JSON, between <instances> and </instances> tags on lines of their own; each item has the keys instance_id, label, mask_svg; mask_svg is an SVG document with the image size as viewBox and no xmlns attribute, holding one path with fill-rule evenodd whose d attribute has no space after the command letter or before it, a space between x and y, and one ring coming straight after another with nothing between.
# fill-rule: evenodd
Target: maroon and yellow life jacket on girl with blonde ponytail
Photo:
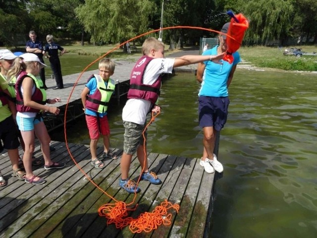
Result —
<instances>
[{"instance_id":1,"label":"maroon and yellow life jacket on girl with blonde ponytail","mask_svg":"<svg viewBox=\"0 0 317 238\"><path fill-rule=\"evenodd\" d=\"M42 80L40 78L35 77L31 73L26 73L25 71L22 71L18 75L17 81L15 83L16 111L21 113L24 113L24 112L39 113L41 111L39 109L24 106L23 95L21 92L21 85L22 85L23 79L26 77L32 78L35 84L35 92L32 94L31 100L42 105L46 104L46 92L44 90Z\"/></svg>"}]
</instances>

